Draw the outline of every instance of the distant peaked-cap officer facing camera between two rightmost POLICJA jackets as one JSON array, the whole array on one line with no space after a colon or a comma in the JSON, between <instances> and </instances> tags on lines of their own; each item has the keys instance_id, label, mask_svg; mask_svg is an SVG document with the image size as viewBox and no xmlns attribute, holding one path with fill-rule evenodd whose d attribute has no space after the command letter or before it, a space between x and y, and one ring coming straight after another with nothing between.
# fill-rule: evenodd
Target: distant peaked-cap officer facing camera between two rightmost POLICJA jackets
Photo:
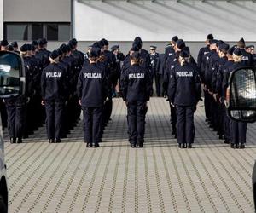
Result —
<instances>
[{"instance_id":1,"label":"distant peaked-cap officer facing camera between two rightmost POLICJA jackets","mask_svg":"<svg viewBox=\"0 0 256 213\"><path fill-rule=\"evenodd\" d=\"M159 61L159 53L156 52L156 46L150 46L150 61L151 61L151 69L154 76L155 90L156 95L160 97L161 89L160 89L160 61Z\"/></svg>"}]
</instances>

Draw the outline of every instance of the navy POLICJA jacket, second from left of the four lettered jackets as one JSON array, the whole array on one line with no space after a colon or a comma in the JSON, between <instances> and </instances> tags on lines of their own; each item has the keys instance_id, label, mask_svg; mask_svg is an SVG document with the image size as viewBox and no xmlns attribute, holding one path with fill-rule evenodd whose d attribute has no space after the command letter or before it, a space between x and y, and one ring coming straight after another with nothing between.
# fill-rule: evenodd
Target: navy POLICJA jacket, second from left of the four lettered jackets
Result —
<instances>
[{"instance_id":1,"label":"navy POLICJA jacket, second from left of the four lettered jackets","mask_svg":"<svg viewBox=\"0 0 256 213\"><path fill-rule=\"evenodd\" d=\"M102 66L84 66L79 74L77 90L83 107L102 107L108 95L108 82Z\"/></svg>"}]
</instances>

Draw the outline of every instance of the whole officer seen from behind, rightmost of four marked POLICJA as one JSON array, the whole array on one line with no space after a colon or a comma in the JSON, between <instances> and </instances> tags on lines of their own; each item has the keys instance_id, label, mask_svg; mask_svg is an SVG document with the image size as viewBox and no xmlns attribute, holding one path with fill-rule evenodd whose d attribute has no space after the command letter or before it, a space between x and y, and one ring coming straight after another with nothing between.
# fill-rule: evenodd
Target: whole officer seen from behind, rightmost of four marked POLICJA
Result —
<instances>
[{"instance_id":1,"label":"whole officer seen from behind, rightmost of four marked POLICJA","mask_svg":"<svg viewBox=\"0 0 256 213\"><path fill-rule=\"evenodd\" d=\"M192 148L195 138L194 112L201 98L201 81L195 66L189 64L189 54L182 51L179 66L174 67L170 75L168 95L177 112L178 147Z\"/></svg>"}]
</instances>

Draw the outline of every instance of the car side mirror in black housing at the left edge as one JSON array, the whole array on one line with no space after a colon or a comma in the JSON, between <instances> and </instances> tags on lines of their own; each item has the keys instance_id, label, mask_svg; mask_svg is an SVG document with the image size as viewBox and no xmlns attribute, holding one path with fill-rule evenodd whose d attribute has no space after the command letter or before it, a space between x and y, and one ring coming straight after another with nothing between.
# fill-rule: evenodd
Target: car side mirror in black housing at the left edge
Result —
<instances>
[{"instance_id":1,"label":"car side mirror in black housing at the left edge","mask_svg":"<svg viewBox=\"0 0 256 213\"><path fill-rule=\"evenodd\" d=\"M25 68L20 55L0 51L0 98L16 97L25 93Z\"/></svg>"}]
</instances>

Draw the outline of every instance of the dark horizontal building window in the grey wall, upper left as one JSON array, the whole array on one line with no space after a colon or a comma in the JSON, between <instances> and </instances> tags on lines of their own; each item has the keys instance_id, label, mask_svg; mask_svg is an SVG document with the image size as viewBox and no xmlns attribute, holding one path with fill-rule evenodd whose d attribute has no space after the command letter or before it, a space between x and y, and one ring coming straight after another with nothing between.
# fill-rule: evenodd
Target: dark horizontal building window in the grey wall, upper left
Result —
<instances>
[{"instance_id":1,"label":"dark horizontal building window in the grey wall, upper left","mask_svg":"<svg viewBox=\"0 0 256 213\"><path fill-rule=\"evenodd\" d=\"M4 23L4 38L10 41L32 41L46 37L49 41L70 39L70 23Z\"/></svg>"}]
</instances>

